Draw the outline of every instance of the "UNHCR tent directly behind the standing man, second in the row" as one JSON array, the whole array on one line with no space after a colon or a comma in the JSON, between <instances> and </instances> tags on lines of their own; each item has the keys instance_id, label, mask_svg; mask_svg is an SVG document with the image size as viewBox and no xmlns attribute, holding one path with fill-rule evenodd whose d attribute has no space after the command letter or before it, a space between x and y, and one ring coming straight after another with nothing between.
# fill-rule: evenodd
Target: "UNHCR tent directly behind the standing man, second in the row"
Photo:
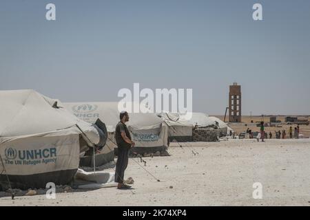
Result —
<instances>
[{"instance_id":1,"label":"UNHCR tent directly behind the standing man, second in the row","mask_svg":"<svg viewBox=\"0 0 310 220\"><path fill-rule=\"evenodd\" d=\"M105 151L102 153L103 157L111 153L114 155L114 148L117 147L114 140L114 132L116 124L120 121L118 104L119 102L65 103L68 110L72 111L81 120L94 122L97 118L100 118L105 123L108 140L107 147L105 147ZM130 121L126 124L132 139L136 142L136 146L132 148L132 153L147 154L167 150L168 128L165 122L154 113L129 113L129 116ZM96 156L97 159L99 164L107 161L107 159L102 159L100 155Z\"/></svg>"}]
</instances>

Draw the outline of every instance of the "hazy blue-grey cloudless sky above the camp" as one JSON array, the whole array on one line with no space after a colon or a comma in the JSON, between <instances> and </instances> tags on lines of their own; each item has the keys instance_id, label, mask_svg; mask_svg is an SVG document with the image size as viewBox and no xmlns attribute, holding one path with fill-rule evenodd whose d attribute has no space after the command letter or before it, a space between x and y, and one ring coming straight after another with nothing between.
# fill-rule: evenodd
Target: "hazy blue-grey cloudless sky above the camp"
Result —
<instances>
[{"instance_id":1,"label":"hazy blue-grey cloudless sky above the camp","mask_svg":"<svg viewBox=\"0 0 310 220\"><path fill-rule=\"evenodd\" d=\"M120 100L133 83L192 88L211 115L234 81L242 114L310 114L309 0L0 1L1 90L77 102Z\"/></svg>"}]
</instances>

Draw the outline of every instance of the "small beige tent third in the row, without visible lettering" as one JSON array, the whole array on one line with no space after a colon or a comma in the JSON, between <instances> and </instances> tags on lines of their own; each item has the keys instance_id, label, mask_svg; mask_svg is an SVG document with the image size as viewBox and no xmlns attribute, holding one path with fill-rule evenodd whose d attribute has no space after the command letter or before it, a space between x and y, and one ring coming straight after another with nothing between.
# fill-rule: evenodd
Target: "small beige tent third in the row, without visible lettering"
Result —
<instances>
[{"instance_id":1,"label":"small beige tent third in the row, without visible lettering","mask_svg":"<svg viewBox=\"0 0 310 220\"><path fill-rule=\"evenodd\" d=\"M169 127L170 142L192 142L193 126L188 122L180 122L178 113L158 113Z\"/></svg>"}]
</instances>

